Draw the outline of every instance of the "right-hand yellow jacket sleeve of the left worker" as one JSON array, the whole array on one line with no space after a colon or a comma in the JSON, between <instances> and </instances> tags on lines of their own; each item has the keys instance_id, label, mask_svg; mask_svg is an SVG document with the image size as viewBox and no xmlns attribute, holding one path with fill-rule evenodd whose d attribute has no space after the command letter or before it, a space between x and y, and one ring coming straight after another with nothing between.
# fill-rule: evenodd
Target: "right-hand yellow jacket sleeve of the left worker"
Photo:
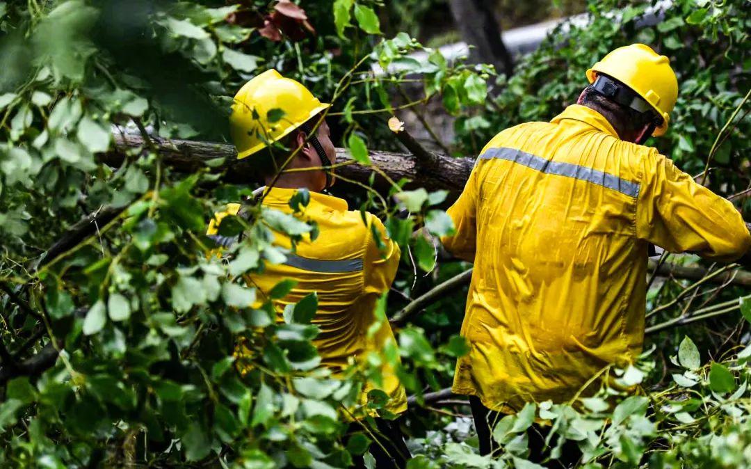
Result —
<instances>
[{"instance_id":1,"label":"right-hand yellow jacket sleeve of the left worker","mask_svg":"<svg viewBox=\"0 0 751 469\"><path fill-rule=\"evenodd\" d=\"M365 244L363 274L365 293L381 295L391 288L399 268L399 244L388 238L386 228L378 217L368 214L368 233ZM379 238L379 241L375 237Z\"/></svg>"}]
</instances>

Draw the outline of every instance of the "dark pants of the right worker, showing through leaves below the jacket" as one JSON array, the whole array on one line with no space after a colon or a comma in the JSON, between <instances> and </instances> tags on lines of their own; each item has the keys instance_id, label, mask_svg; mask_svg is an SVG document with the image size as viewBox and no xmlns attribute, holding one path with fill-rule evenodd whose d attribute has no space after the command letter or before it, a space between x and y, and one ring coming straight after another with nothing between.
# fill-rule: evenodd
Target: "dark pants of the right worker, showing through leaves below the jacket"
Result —
<instances>
[{"instance_id":1,"label":"dark pants of the right worker, showing through leaves below the jacket","mask_svg":"<svg viewBox=\"0 0 751 469\"><path fill-rule=\"evenodd\" d=\"M472 407L475 431L477 431L477 437L480 440L480 454L488 455L498 449L498 443L492 437L492 426L502 418L502 415L482 405L480 399L475 396L469 396L469 406ZM550 448L545 446L545 439L548 434L550 434L549 426L537 425L536 423L532 424L526 431L529 439L529 461L550 467L550 469L576 467L579 459L581 459L581 451L576 442L571 440L566 440L566 443L563 443L560 458L542 463L550 455ZM551 447L556 446L557 438L558 435L555 435L550 440Z\"/></svg>"}]
</instances>

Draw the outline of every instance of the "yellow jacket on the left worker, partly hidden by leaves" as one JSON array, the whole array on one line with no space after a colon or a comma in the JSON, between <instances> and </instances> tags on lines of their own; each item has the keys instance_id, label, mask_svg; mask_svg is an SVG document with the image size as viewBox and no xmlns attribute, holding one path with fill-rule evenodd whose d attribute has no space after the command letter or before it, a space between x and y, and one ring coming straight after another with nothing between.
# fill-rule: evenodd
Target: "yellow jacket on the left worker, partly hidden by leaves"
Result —
<instances>
[{"instance_id":1,"label":"yellow jacket on the left worker, partly hidden by leaves","mask_svg":"<svg viewBox=\"0 0 751 469\"><path fill-rule=\"evenodd\" d=\"M295 192L296 189L272 188L263 204L291 213L288 201ZM228 204L227 211L216 213L207 235L216 235L219 222L225 216L237 215L239 209L240 204ZM321 365L337 372L348 365L348 359L364 360L369 353L382 350L386 341L394 341L394 332L386 320L372 337L367 332L375 322L375 302L391 288L397 274L400 249L387 237L381 220L366 213L365 225L360 212L348 210L347 202L341 198L310 192L309 204L301 218L318 224L318 238L297 243L297 250L287 254L285 262L267 263L262 274L251 274L247 280L260 290L259 300L284 279L297 282L285 298L275 302L279 322L284 320L282 311L286 304L297 303L309 293L317 292L318 311L312 324L321 332L313 343L321 356ZM385 245L382 250L372 235L372 226ZM291 249L288 236L275 235L276 246ZM228 244L222 239L219 242ZM407 408L404 387L390 366L385 365L382 371L382 385L369 383L360 395L360 404L366 403L367 392L378 388L391 396L388 410L404 412Z\"/></svg>"}]
</instances>

